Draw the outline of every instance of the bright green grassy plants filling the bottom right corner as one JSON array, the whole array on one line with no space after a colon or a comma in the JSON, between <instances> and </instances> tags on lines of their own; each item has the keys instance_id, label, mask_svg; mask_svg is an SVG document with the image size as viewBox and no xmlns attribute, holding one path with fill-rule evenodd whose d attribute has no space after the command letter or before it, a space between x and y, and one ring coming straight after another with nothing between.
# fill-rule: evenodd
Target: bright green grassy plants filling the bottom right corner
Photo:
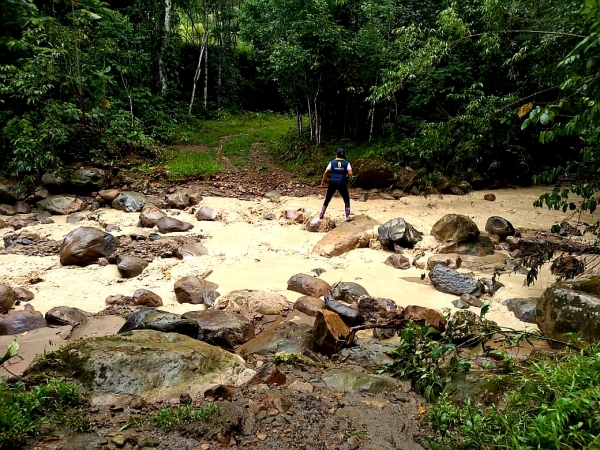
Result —
<instances>
[{"instance_id":1,"label":"bright green grassy plants filling the bottom right corner","mask_svg":"<svg viewBox=\"0 0 600 450\"><path fill-rule=\"evenodd\" d=\"M483 408L447 395L428 408L432 448L575 449L600 445L600 347L518 364L503 400Z\"/></svg>"}]
</instances>

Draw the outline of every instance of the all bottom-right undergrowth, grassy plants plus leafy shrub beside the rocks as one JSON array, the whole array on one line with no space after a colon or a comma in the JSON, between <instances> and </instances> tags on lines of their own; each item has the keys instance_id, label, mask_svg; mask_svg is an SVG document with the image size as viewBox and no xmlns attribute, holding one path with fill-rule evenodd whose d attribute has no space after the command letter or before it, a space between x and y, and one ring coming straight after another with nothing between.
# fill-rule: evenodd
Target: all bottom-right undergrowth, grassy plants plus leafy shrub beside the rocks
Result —
<instances>
[{"instance_id":1,"label":"all bottom-right undergrowth, grassy plants plus leafy shrub beside the rocks","mask_svg":"<svg viewBox=\"0 0 600 450\"><path fill-rule=\"evenodd\" d=\"M497 327L485 319L486 310L484 305L481 319L447 316L441 332L409 326L391 353L394 363L387 370L410 380L430 402L425 413L430 447L600 449L600 344L567 344L516 361L486 342L510 348L542 337ZM489 365L473 363L462 351L475 345L491 357ZM485 380L485 388L456 395L454 380L472 382L467 374Z\"/></svg>"}]
</instances>

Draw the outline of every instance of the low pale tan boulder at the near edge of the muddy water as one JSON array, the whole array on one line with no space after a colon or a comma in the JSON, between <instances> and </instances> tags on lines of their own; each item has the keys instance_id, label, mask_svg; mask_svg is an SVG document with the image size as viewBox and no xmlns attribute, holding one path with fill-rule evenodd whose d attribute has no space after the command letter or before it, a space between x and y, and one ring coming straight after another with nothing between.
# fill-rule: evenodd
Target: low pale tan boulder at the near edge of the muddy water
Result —
<instances>
[{"instance_id":1,"label":"low pale tan boulder at the near edge of the muddy water","mask_svg":"<svg viewBox=\"0 0 600 450\"><path fill-rule=\"evenodd\" d=\"M277 315L290 309L291 304L283 295L267 291L241 289L231 291L219 298L215 305L229 312L241 312L252 318L255 314Z\"/></svg>"}]
</instances>

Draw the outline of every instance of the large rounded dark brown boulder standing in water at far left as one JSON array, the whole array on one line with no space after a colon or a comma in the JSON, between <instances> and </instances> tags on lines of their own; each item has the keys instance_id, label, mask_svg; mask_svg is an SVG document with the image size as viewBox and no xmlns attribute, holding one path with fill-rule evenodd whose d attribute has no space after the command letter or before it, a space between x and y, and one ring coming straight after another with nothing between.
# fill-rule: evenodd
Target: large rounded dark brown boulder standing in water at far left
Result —
<instances>
[{"instance_id":1,"label":"large rounded dark brown boulder standing in water at far left","mask_svg":"<svg viewBox=\"0 0 600 450\"><path fill-rule=\"evenodd\" d=\"M87 266L108 257L117 247L115 238L94 227L81 227L71 231L60 246L60 263L63 266Z\"/></svg>"}]
</instances>

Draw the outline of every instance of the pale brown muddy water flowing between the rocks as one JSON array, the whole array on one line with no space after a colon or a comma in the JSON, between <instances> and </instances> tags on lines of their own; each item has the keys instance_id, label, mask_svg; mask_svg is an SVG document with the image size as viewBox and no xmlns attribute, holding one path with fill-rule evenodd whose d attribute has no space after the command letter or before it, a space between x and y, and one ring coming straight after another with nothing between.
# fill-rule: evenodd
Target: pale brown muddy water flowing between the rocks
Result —
<instances>
[{"instance_id":1,"label":"pale brown muddy water flowing between the rocks","mask_svg":"<svg viewBox=\"0 0 600 450\"><path fill-rule=\"evenodd\" d=\"M466 196L430 196L406 197L396 201L369 200L352 202L355 215L366 214L383 223L395 217L403 217L426 236L416 249L407 251L411 257L420 251L425 252L423 260L435 253L439 245L429 232L432 225L448 213L465 214L471 217L481 230L484 230L489 216L500 215L510 220L515 227L527 227L548 230L552 224L567 219L568 216L547 209L535 209L532 203L546 190L544 188L526 188L494 191L495 202L483 200L485 191ZM397 270L383 264L389 252L370 248L354 250L348 254L331 259L311 254L314 245L323 237L322 233L309 233L301 225L289 224L283 219L268 221L265 214L273 212L277 217L287 207L303 207L313 211L320 210L322 198L284 197L281 203L272 203L265 199L241 201L220 197L206 197L203 205L217 209L221 220L216 222L198 222L186 212L176 217L195 225L192 233L201 233L208 237L204 240L209 255L186 260L156 259L142 275L133 279L122 279L116 266L101 267L92 265L81 267L62 267L58 256L27 257L0 255L0 280L13 286L23 286L35 294L32 301L35 309L45 312L59 306L75 306L86 311L100 311L109 295L131 295L136 289L150 289L160 295L168 311L183 313L202 309L200 305L180 305L175 300L173 284L180 277L201 274L208 269L213 273L208 277L219 284L218 291L225 294L236 289L263 289L286 296L290 302L300 294L287 290L287 280L299 272L309 272L322 268L325 281L333 284L337 281L355 281L363 285L374 296L388 297L400 305L417 304L437 309L452 308L456 297L436 291L433 286L415 283L423 271L417 268ZM112 209L102 211L102 221L117 224L122 231L115 235L127 234L136 230L138 214L126 214ZM176 214L177 212L170 212ZM332 218L343 217L343 203L334 198L327 214ZM1 217L1 216L0 216ZM84 221L70 225L65 217L53 217L55 224L38 225L29 228L40 236L62 239L69 231L78 226L98 226L97 222ZM587 216L590 222L595 217ZM0 236L9 230L0 230ZM0 244L1 245L1 244ZM493 261L492 261L493 264ZM461 272L473 271L476 276L484 274L477 269L461 269ZM489 277L487 272L485 276ZM43 281L29 284L33 278ZM532 328L522 323L508 312L501 301L511 297L537 297L553 281L547 269L543 270L538 282L532 287L523 285L522 275L502 275L500 281L505 287L493 298L489 318L499 324L517 329ZM476 311L478 312L478 311Z\"/></svg>"}]
</instances>

